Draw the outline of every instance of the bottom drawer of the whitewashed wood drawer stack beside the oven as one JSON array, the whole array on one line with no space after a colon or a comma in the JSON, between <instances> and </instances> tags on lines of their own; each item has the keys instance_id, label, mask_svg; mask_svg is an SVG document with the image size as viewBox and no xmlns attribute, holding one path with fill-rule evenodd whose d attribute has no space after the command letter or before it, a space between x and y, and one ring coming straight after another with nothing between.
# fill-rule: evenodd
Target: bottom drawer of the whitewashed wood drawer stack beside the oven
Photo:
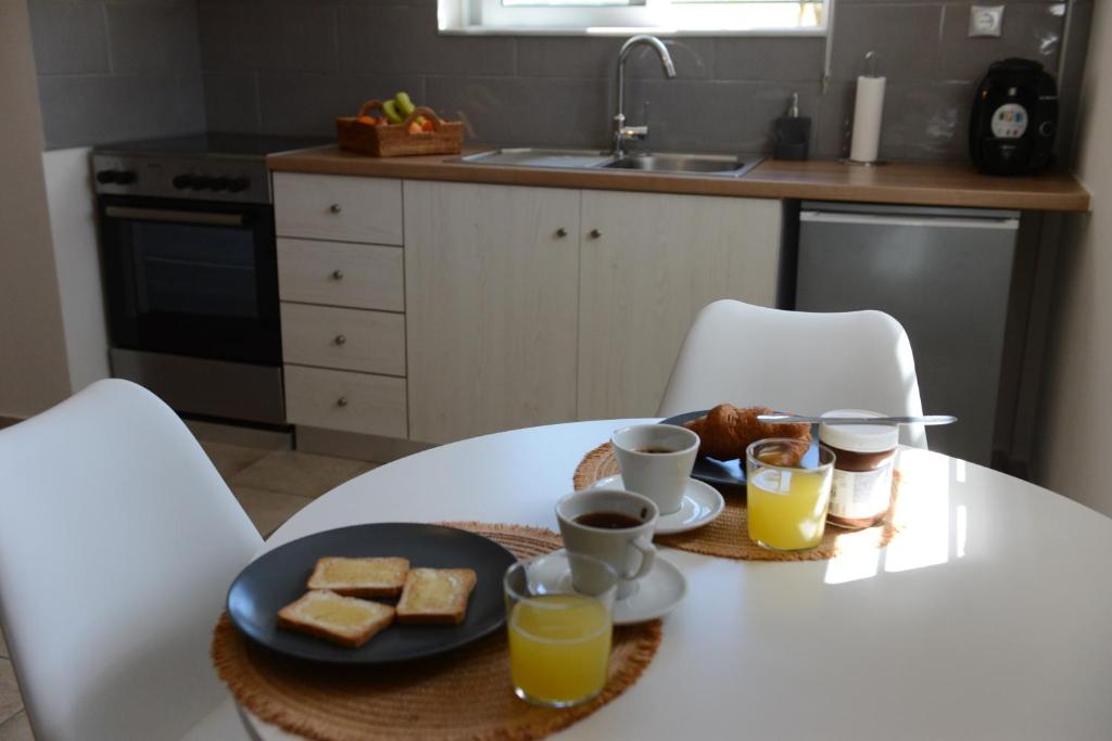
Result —
<instances>
[{"instance_id":1,"label":"bottom drawer of the whitewashed wood drawer stack beside the oven","mask_svg":"<svg viewBox=\"0 0 1112 741\"><path fill-rule=\"evenodd\" d=\"M406 380L286 366L286 419L326 430L406 438Z\"/></svg>"}]
</instances>

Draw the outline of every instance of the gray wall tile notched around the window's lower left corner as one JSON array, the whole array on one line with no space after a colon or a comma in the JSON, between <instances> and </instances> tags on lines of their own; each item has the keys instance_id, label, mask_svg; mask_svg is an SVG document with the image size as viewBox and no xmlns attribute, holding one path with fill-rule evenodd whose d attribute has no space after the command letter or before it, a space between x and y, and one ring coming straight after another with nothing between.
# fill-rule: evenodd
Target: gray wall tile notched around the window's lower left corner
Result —
<instances>
[{"instance_id":1,"label":"gray wall tile notched around the window's lower left corner","mask_svg":"<svg viewBox=\"0 0 1112 741\"><path fill-rule=\"evenodd\" d=\"M339 8L344 72L514 74L516 40L440 36L436 7Z\"/></svg>"}]
</instances>

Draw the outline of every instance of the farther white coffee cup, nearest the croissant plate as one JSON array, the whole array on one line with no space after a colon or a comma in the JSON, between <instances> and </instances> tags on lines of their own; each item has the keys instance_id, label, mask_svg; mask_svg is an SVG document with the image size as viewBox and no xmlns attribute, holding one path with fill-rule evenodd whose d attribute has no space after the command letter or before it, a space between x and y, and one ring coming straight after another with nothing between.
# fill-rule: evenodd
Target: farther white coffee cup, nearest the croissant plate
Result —
<instances>
[{"instance_id":1,"label":"farther white coffee cup, nearest the croissant plate","mask_svg":"<svg viewBox=\"0 0 1112 741\"><path fill-rule=\"evenodd\" d=\"M698 435L676 424L634 424L610 438L622 484L652 499L661 514L679 511L698 455Z\"/></svg>"}]
</instances>

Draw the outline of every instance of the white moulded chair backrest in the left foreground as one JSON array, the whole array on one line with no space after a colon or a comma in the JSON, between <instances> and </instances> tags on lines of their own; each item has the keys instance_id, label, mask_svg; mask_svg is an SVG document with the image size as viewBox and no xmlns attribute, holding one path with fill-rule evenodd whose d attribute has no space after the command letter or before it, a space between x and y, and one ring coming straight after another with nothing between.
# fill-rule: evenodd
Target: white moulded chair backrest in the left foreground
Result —
<instances>
[{"instance_id":1,"label":"white moulded chair backrest in the left foreground","mask_svg":"<svg viewBox=\"0 0 1112 741\"><path fill-rule=\"evenodd\" d=\"M173 739L258 532L177 415L99 381L0 431L0 621L39 741Z\"/></svg>"}]
</instances>

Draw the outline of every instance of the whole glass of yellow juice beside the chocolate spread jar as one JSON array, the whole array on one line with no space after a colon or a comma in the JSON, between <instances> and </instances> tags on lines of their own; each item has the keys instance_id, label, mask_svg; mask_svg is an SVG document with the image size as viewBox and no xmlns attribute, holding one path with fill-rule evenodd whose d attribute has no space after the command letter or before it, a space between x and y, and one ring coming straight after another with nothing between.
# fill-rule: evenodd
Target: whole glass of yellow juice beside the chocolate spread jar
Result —
<instances>
[{"instance_id":1,"label":"whole glass of yellow juice beside the chocolate spread jar","mask_svg":"<svg viewBox=\"0 0 1112 741\"><path fill-rule=\"evenodd\" d=\"M749 539L776 551L802 551L823 539L834 477L834 451L781 438L745 451Z\"/></svg>"}]
</instances>

